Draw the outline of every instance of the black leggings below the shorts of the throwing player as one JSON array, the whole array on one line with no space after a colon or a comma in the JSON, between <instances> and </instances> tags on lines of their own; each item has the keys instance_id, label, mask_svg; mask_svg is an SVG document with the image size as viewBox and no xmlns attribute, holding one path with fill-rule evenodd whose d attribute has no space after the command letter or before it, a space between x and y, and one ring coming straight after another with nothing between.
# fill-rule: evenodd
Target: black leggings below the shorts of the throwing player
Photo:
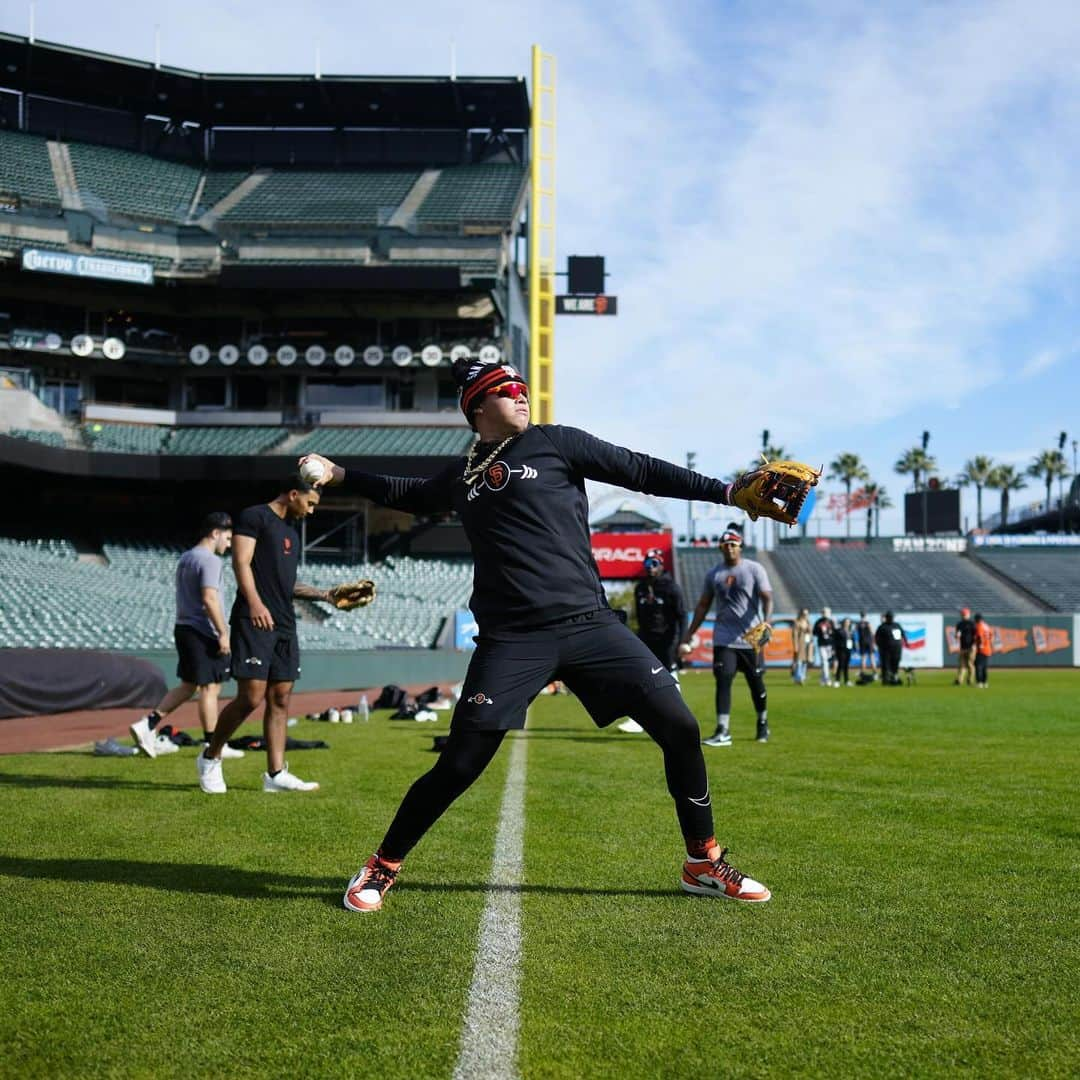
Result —
<instances>
[{"instance_id":1,"label":"black leggings below the shorts of the throwing player","mask_svg":"<svg viewBox=\"0 0 1080 1080\"><path fill-rule=\"evenodd\" d=\"M701 753L698 721L678 687L643 698L631 714L664 755L667 791L688 845L713 836L713 806ZM434 767L408 789L379 848L390 860L404 859L450 804L487 768L505 731L450 730Z\"/></svg>"}]
</instances>

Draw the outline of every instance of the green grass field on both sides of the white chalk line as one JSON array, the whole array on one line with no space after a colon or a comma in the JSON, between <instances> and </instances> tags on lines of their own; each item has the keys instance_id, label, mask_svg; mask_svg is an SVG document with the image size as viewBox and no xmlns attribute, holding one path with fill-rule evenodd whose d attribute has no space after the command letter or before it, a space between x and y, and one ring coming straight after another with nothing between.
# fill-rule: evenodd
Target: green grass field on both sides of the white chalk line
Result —
<instances>
[{"instance_id":1,"label":"green grass field on both sides of the white chalk line","mask_svg":"<svg viewBox=\"0 0 1080 1080\"><path fill-rule=\"evenodd\" d=\"M518 1075L1080 1075L1080 671L991 675L770 675L767 745L737 685L735 744L706 754L766 905L684 895L659 752L539 701ZM711 731L711 676L686 687ZM0 758L0 1075L449 1077L509 747L351 915L446 730L386 715L301 726L333 745L293 755L313 795L264 795L261 755L222 798L193 751Z\"/></svg>"}]
</instances>

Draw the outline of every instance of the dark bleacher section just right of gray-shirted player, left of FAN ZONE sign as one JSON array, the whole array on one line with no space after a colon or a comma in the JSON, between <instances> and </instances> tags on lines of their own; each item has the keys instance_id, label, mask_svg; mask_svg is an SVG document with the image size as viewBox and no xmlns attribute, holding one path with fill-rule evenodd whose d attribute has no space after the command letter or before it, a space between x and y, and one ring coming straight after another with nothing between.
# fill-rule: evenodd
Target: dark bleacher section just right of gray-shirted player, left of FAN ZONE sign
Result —
<instances>
[{"instance_id":1,"label":"dark bleacher section just right of gray-shirted player, left of FAN ZONE sign","mask_svg":"<svg viewBox=\"0 0 1080 1080\"><path fill-rule=\"evenodd\" d=\"M781 546L773 566L796 606L811 611L951 611L1034 615L1039 605L962 555L892 551L818 551Z\"/></svg>"}]
</instances>

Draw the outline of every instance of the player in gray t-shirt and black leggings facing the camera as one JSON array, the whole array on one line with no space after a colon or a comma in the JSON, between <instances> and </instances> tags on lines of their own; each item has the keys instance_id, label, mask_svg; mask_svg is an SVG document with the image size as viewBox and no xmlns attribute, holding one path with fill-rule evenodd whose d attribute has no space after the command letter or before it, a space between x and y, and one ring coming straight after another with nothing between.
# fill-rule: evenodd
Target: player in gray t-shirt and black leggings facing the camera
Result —
<instances>
[{"instance_id":1,"label":"player in gray t-shirt and black leggings facing the camera","mask_svg":"<svg viewBox=\"0 0 1080 1080\"><path fill-rule=\"evenodd\" d=\"M720 537L723 562L705 575L701 599L683 638L680 648L690 651L690 638L708 609L716 608L713 627L713 674L716 676L716 731L704 740L706 746L731 745L731 684L741 671L750 686L757 712L757 741L769 741L766 710L765 665L760 653L744 634L759 622L772 618L772 586L765 567L742 557L742 529L733 522Z\"/></svg>"}]
</instances>

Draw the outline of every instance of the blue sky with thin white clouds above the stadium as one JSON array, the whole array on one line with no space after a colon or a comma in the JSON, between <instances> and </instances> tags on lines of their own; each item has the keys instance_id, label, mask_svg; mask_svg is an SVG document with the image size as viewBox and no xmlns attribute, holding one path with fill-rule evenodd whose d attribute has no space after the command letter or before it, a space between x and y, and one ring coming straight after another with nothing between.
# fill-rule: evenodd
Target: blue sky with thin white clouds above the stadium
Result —
<instances>
[{"instance_id":1,"label":"blue sky with thin white clouds above the stadium","mask_svg":"<svg viewBox=\"0 0 1080 1080\"><path fill-rule=\"evenodd\" d=\"M0 12L27 32L28 3ZM553 54L558 262L606 256L619 297L557 323L558 422L720 476L767 429L814 464L859 454L897 503L923 431L944 478L976 454L1026 467L1062 431L1071 464L1071 0L36 5L38 38L140 59L156 27L162 63L205 71L313 71L318 49L324 73L447 75L453 52L461 76L528 76L531 44Z\"/></svg>"}]
</instances>

